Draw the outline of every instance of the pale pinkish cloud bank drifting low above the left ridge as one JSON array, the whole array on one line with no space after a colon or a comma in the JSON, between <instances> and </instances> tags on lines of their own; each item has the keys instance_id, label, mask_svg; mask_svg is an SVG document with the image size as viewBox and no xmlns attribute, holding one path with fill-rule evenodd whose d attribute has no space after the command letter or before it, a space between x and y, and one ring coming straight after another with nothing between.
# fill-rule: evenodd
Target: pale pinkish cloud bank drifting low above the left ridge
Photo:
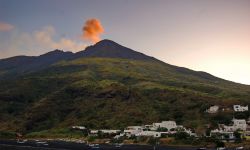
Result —
<instances>
[{"instance_id":1,"label":"pale pinkish cloud bank drifting low above the left ridge","mask_svg":"<svg viewBox=\"0 0 250 150\"><path fill-rule=\"evenodd\" d=\"M14 55L40 55L54 49L77 52L84 50L86 44L69 38L55 40L56 31L53 26L28 32L12 32L10 39L0 41L0 58Z\"/></svg>"}]
</instances>

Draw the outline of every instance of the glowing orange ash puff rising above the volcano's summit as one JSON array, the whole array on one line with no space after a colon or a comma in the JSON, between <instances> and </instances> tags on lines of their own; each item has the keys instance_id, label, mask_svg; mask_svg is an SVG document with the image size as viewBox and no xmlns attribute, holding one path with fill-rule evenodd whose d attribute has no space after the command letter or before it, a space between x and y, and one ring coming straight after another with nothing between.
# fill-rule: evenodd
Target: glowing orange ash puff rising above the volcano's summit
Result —
<instances>
[{"instance_id":1,"label":"glowing orange ash puff rising above the volcano's summit","mask_svg":"<svg viewBox=\"0 0 250 150\"><path fill-rule=\"evenodd\" d=\"M104 32L101 22L98 19L89 19L83 28L83 38L93 43L100 41L100 34Z\"/></svg>"}]
</instances>

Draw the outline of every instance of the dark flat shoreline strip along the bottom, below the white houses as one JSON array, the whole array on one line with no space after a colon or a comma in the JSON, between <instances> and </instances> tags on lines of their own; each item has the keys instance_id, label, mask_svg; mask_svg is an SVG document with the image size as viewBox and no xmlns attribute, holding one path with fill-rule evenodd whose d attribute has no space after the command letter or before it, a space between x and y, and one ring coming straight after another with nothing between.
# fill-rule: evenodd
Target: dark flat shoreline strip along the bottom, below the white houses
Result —
<instances>
[{"instance_id":1,"label":"dark flat shoreline strip along the bottom, below the white houses","mask_svg":"<svg viewBox=\"0 0 250 150\"><path fill-rule=\"evenodd\" d=\"M83 143L73 143L64 141L27 141L25 143L18 143L15 140L0 140L1 150L153 150L154 146L150 145L122 145L117 147L111 144L102 144L98 147L91 147ZM198 148L185 148L185 147L170 147L170 146L157 146L157 150L195 150Z\"/></svg>"}]
</instances>

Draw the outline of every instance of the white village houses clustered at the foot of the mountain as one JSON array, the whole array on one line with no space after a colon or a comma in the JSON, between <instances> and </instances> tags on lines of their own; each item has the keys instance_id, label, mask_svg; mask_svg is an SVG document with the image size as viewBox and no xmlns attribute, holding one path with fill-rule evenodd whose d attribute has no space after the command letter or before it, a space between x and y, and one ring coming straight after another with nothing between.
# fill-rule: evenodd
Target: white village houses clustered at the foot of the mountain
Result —
<instances>
[{"instance_id":1,"label":"white village houses clustered at the foot of the mountain","mask_svg":"<svg viewBox=\"0 0 250 150\"><path fill-rule=\"evenodd\" d=\"M248 106L233 105L232 110L234 112L247 112ZM213 105L210 106L204 113L216 114L218 111L225 110L224 108L220 110L219 106ZM88 137L96 137L98 139L100 138L100 135L102 135L102 137L109 137L115 141L119 141L121 138L124 139L124 137L127 139L136 139L140 137L160 139L164 137L176 137L177 134L180 133L182 133L184 139L188 137L192 137L194 139L213 137L221 142L241 142L243 139L245 141L250 140L250 118L248 120L232 118L229 125L218 124L218 128L211 129L208 133L204 133L203 135L197 135L197 133L195 133L195 129L178 125L173 120L155 122L149 125L128 126L124 130L92 130L87 129L84 126L72 126L72 129L86 132Z\"/></svg>"}]
</instances>

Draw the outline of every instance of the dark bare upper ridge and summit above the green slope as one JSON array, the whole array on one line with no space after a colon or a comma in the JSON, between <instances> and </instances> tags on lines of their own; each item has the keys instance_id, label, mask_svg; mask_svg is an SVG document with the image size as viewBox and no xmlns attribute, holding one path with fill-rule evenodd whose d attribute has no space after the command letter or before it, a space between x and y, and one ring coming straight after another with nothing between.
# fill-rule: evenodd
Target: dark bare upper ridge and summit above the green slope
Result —
<instances>
[{"instance_id":1,"label":"dark bare upper ridge and summit above the green slope","mask_svg":"<svg viewBox=\"0 0 250 150\"><path fill-rule=\"evenodd\" d=\"M74 60L88 57L103 57L103 58L122 58L146 61L158 61L165 65L173 67L177 72L194 74L208 79L219 79L204 71L194 71L186 67L179 67L168 64L154 57L147 56L125 46L122 46L112 40L104 39L85 48L85 50L73 53L70 51L53 50L39 56L14 56L10 58L0 59L0 77L24 75L30 72L35 72L49 67L50 65L63 60ZM1 72L8 72L2 73ZM14 75L13 75L14 74ZM224 79L223 79L224 80Z\"/></svg>"}]
</instances>

